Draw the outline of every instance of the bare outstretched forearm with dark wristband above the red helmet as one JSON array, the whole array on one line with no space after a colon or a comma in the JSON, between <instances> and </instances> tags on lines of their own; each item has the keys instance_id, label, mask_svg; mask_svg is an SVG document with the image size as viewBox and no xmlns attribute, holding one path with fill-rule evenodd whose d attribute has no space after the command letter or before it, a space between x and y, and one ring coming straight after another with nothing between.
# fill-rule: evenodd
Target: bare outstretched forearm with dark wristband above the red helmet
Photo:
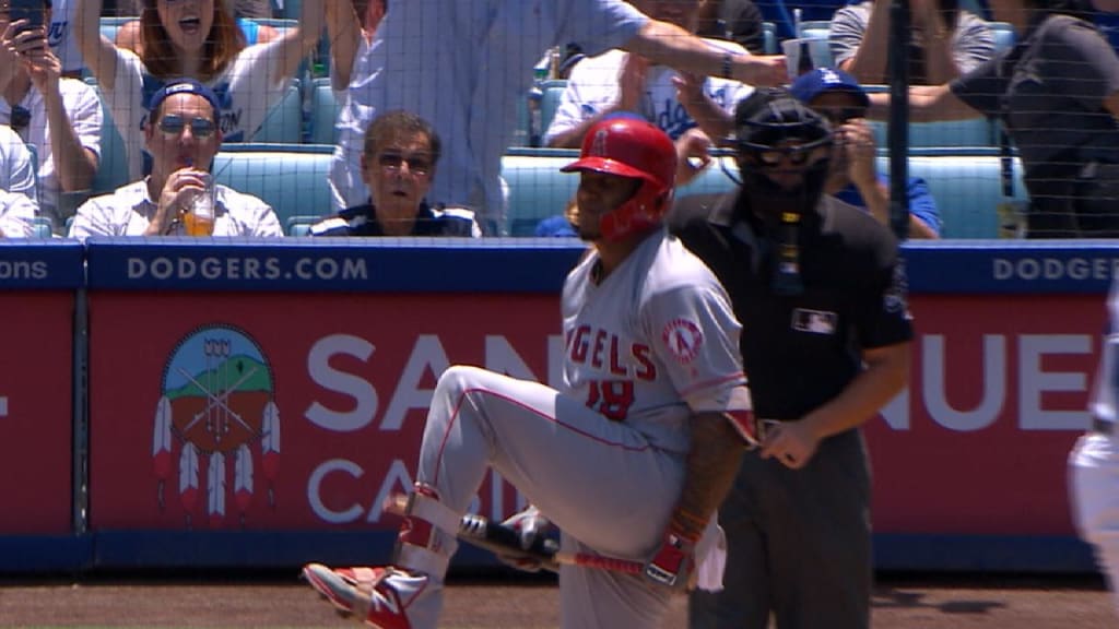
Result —
<instances>
[{"instance_id":1,"label":"bare outstretched forearm with dark wristband above the red helmet","mask_svg":"<svg viewBox=\"0 0 1119 629\"><path fill-rule=\"evenodd\" d=\"M651 63L700 76L722 76L764 86L781 85L788 81L781 55L735 55L713 48L676 25L657 20L645 22L621 48L637 53Z\"/></svg>"}]
</instances>

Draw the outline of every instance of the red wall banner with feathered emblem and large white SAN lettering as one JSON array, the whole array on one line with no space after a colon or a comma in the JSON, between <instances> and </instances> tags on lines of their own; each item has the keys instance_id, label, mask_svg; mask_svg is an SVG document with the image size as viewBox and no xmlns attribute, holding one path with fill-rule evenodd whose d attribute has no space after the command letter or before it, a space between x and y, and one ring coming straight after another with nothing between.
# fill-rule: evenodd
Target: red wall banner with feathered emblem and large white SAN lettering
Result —
<instances>
[{"instance_id":1,"label":"red wall banner with feathered emblem and large white SAN lettering","mask_svg":"<svg viewBox=\"0 0 1119 629\"><path fill-rule=\"evenodd\" d=\"M555 295L91 294L91 527L393 528L438 375L555 382ZM1099 297L919 297L909 392L867 428L875 528L1069 534ZM549 370L552 366L552 370ZM572 464L579 464L572 461ZM501 481L482 513L515 508Z\"/></svg>"}]
</instances>

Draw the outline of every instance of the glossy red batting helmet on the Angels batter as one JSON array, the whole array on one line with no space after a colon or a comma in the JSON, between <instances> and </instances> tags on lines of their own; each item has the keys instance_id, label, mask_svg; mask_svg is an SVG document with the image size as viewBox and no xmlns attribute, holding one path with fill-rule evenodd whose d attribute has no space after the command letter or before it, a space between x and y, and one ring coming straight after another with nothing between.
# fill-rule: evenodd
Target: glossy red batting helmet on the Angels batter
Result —
<instances>
[{"instance_id":1,"label":"glossy red batting helmet on the Angels batter","mask_svg":"<svg viewBox=\"0 0 1119 629\"><path fill-rule=\"evenodd\" d=\"M664 131L636 118L606 118L583 137L580 158L561 170L592 170L640 179L629 200L603 215L602 237L618 241L660 225L673 199L676 147Z\"/></svg>"}]
</instances>

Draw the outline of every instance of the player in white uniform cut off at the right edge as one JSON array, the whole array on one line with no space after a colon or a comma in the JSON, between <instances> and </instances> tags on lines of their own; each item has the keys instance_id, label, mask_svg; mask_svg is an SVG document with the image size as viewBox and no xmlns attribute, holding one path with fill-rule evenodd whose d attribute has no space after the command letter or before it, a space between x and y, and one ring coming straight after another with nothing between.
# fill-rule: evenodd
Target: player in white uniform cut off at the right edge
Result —
<instances>
[{"instance_id":1,"label":"player in white uniform cut off at the right edge","mask_svg":"<svg viewBox=\"0 0 1119 629\"><path fill-rule=\"evenodd\" d=\"M1096 548L1096 558L1108 576L1119 614L1119 426L1116 393L1119 389L1119 282L1108 298L1110 330L1091 402L1092 429L1069 454L1073 519L1081 537Z\"/></svg>"}]
</instances>

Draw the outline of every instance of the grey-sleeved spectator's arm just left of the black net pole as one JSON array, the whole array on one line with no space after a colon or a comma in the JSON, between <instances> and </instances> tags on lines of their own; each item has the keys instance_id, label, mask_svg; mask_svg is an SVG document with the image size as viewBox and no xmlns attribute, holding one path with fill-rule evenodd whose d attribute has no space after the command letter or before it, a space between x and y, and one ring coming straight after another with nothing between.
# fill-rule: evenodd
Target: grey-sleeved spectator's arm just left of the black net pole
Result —
<instances>
[{"instance_id":1,"label":"grey-sleeved spectator's arm just left of the black net pole","mask_svg":"<svg viewBox=\"0 0 1119 629\"><path fill-rule=\"evenodd\" d=\"M881 85L886 81L890 1L872 2L869 17L864 22L865 11L862 4L836 11L828 41L839 69L849 72L859 83Z\"/></svg>"}]
</instances>

